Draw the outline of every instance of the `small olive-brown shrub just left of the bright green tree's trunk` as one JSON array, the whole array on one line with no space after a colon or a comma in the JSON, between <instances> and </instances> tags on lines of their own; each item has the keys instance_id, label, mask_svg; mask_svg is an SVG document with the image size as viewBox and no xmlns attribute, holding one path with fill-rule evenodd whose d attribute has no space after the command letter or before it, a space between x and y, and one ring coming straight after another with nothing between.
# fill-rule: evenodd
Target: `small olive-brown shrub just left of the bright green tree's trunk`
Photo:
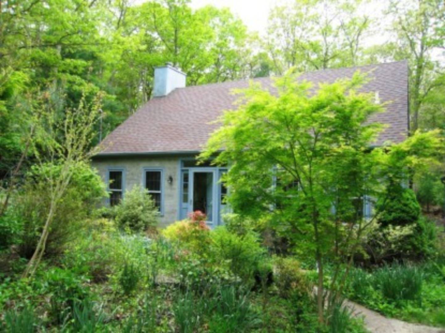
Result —
<instances>
[{"instance_id":1,"label":"small olive-brown shrub just left of the bright green tree's trunk","mask_svg":"<svg viewBox=\"0 0 445 333\"><path fill-rule=\"evenodd\" d=\"M281 297L307 296L311 293L310 281L300 269L299 261L291 257L279 257L276 260L276 269L278 272L275 284Z\"/></svg>"}]
</instances>

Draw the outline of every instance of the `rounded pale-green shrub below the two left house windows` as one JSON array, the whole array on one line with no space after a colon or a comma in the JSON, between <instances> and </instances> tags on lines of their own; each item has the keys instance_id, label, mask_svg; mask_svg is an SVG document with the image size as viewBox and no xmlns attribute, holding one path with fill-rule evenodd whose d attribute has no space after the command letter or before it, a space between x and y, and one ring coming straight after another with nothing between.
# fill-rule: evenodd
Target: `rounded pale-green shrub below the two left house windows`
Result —
<instances>
[{"instance_id":1,"label":"rounded pale-green shrub below the two left house windows","mask_svg":"<svg viewBox=\"0 0 445 333\"><path fill-rule=\"evenodd\" d=\"M124 199L115 207L115 219L121 229L141 232L158 223L158 209L142 186L126 191Z\"/></svg>"}]
</instances>

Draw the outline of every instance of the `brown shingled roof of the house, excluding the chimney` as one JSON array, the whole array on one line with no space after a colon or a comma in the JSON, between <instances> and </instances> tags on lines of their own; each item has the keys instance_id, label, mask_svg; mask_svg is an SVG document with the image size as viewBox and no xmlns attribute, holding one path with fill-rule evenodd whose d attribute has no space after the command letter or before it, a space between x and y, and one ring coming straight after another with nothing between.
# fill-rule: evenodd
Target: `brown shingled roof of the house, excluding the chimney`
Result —
<instances>
[{"instance_id":1,"label":"brown shingled roof of the house, excluding the chimney","mask_svg":"<svg viewBox=\"0 0 445 333\"><path fill-rule=\"evenodd\" d=\"M400 142L408 129L408 65L406 61L352 68L307 72L299 78L317 83L332 83L349 78L354 72L370 72L371 80L363 91L378 91L381 102L391 101L386 111L373 121L388 124L377 145ZM264 88L272 88L271 78L253 79ZM218 124L210 124L223 110L234 109L238 96L234 88L245 88L249 80L204 84L178 88L164 97L155 97L111 132L97 155L166 152L198 152Z\"/></svg>"}]
</instances>

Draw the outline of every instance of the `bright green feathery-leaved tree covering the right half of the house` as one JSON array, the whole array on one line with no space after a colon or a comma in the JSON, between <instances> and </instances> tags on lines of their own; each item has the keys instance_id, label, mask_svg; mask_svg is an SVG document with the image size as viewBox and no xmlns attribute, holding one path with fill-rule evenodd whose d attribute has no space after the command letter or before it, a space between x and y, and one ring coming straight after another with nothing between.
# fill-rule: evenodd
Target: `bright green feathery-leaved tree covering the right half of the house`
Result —
<instances>
[{"instance_id":1,"label":"bright green feathery-leaved tree covering the right half of the house","mask_svg":"<svg viewBox=\"0 0 445 333\"><path fill-rule=\"evenodd\" d=\"M385 185L405 179L408 167L425 162L423 154L443 150L441 140L426 135L371 149L381 126L366 120L383 106L374 104L372 93L357 92L363 82L356 74L352 80L321 84L313 93L311 84L287 74L276 80L278 96L251 85L243 90L244 103L224 114L222 127L201 154L202 159L217 154L215 163L231 165L226 181L235 212L267 221L293 238L299 251L312 254L320 322L326 319L324 264L332 261L335 268L331 311L352 255L378 218L377 213L364 218L364 201L381 197ZM422 144L426 147L420 149Z\"/></svg>"}]
</instances>

